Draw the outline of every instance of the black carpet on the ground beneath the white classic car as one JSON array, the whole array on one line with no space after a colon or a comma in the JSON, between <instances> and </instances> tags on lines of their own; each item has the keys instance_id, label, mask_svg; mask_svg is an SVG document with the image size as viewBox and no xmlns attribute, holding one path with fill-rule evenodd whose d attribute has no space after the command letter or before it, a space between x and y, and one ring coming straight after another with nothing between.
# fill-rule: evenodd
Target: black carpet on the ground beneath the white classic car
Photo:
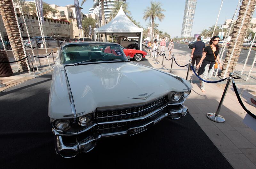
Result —
<instances>
[{"instance_id":1,"label":"black carpet on the ground beneath the white classic car","mask_svg":"<svg viewBox=\"0 0 256 169\"><path fill-rule=\"evenodd\" d=\"M44 74L0 92L0 168L232 168L189 114L61 158L47 115L51 77Z\"/></svg>"}]
</instances>

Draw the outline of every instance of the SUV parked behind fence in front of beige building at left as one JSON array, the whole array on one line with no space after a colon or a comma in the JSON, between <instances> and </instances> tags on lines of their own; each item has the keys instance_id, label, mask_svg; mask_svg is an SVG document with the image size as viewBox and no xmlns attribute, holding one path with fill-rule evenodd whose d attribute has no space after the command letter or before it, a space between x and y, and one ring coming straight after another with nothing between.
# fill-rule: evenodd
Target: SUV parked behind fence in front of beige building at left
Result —
<instances>
[{"instance_id":1,"label":"SUV parked behind fence in front of beige building at left","mask_svg":"<svg viewBox=\"0 0 256 169\"><path fill-rule=\"evenodd\" d=\"M45 36L44 39L47 47L58 47L62 43L64 43L64 41L62 40L56 40L49 36ZM41 44L43 44L43 39L41 36L32 37L30 38L30 41L28 39L23 41L24 41L24 45L28 48L30 48L30 43L32 44L33 48L41 48ZM58 44L58 41L59 41L59 44Z\"/></svg>"}]
</instances>

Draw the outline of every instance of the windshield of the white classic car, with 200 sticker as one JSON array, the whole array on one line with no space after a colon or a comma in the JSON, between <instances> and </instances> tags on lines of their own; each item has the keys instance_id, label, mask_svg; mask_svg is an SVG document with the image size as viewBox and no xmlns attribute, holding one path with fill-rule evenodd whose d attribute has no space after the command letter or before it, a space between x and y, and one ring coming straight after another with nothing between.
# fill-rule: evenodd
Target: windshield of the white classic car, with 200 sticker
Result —
<instances>
[{"instance_id":1,"label":"windshield of the white classic car, with 200 sticker","mask_svg":"<svg viewBox=\"0 0 256 169\"><path fill-rule=\"evenodd\" d=\"M123 49L115 44L70 44L62 49L63 64L74 64L90 60L99 62L105 60L128 60Z\"/></svg>"}]
</instances>

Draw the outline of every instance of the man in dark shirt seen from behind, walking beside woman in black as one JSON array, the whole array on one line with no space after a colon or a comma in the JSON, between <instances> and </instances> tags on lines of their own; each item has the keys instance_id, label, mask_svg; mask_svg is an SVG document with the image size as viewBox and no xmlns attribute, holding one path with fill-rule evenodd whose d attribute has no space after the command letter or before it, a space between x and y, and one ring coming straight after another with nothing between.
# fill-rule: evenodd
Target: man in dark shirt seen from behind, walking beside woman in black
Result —
<instances>
[{"instance_id":1,"label":"man in dark shirt seen from behind, walking beside woman in black","mask_svg":"<svg viewBox=\"0 0 256 169\"><path fill-rule=\"evenodd\" d=\"M192 49L192 52L191 52L191 59L192 59L191 65L193 67L195 65L195 62L196 62L196 65L198 65L199 61L202 58L203 51L204 51L204 48L205 48L205 44L204 44L204 42L201 41L201 38L202 38L201 36L197 37L197 42L194 43L193 49Z\"/></svg>"}]
</instances>

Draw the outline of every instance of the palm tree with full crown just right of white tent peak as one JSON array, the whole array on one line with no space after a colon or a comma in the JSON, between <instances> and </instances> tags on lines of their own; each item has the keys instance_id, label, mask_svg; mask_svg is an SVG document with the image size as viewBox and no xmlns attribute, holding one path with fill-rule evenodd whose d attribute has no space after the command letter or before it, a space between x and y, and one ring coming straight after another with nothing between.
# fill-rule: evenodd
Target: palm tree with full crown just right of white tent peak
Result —
<instances>
[{"instance_id":1,"label":"palm tree with full crown just right of white tent peak","mask_svg":"<svg viewBox=\"0 0 256 169\"><path fill-rule=\"evenodd\" d=\"M144 11L144 16L143 19L145 19L145 21L147 19L152 19L152 24L151 24L151 28L154 28L155 25L155 19L158 18L158 20L161 22L164 19L164 14L162 12L164 12L165 10L162 9L162 3L160 2L150 2L151 6L147 7L147 9ZM153 41L154 37L153 37L153 31L151 31L151 40Z\"/></svg>"}]
</instances>

